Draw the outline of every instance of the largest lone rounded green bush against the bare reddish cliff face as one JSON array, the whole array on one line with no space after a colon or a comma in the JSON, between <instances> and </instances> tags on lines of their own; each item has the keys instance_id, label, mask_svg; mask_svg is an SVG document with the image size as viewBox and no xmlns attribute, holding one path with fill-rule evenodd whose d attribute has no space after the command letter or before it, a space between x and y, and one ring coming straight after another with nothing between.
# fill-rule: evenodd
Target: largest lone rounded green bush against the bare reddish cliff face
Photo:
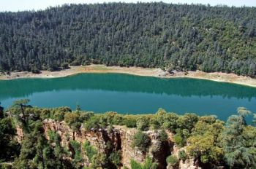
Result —
<instances>
[{"instance_id":1,"label":"largest lone rounded green bush against the bare reddish cliff face","mask_svg":"<svg viewBox=\"0 0 256 169\"><path fill-rule=\"evenodd\" d=\"M147 152L151 140L146 133L138 131L133 137L132 146L137 147L141 152Z\"/></svg>"}]
</instances>

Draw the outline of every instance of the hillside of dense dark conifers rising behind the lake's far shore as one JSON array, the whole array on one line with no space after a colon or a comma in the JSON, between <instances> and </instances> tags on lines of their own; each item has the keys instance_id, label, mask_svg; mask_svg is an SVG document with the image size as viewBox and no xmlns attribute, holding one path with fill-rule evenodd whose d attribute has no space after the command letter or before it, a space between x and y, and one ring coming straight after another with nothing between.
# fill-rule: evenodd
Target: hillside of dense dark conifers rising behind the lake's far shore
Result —
<instances>
[{"instance_id":1,"label":"hillside of dense dark conifers rising behind the lake's far shore","mask_svg":"<svg viewBox=\"0 0 256 169\"><path fill-rule=\"evenodd\" d=\"M0 71L90 63L256 76L256 8L80 4L0 13Z\"/></svg>"}]
</instances>

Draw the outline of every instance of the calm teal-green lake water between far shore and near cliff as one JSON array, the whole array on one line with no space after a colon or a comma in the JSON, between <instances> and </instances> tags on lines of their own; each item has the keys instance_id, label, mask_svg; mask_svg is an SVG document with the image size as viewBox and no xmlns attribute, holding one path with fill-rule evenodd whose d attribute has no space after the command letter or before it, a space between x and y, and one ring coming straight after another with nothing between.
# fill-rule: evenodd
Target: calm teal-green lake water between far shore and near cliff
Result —
<instances>
[{"instance_id":1,"label":"calm teal-green lake water between far shore and near cliff","mask_svg":"<svg viewBox=\"0 0 256 169\"><path fill-rule=\"evenodd\" d=\"M159 79L127 74L78 74L57 79L0 81L1 105L29 98L32 106L79 104L83 110L123 114L215 114L226 120L239 106L256 112L256 88L200 79ZM249 117L249 120L252 117Z\"/></svg>"}]
</instances>

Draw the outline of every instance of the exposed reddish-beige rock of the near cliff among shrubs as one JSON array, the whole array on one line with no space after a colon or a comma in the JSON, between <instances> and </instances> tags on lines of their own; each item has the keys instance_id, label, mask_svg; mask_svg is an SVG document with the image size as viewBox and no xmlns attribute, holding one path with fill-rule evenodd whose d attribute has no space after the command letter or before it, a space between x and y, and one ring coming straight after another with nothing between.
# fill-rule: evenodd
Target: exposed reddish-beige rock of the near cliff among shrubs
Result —
<instances>
[{"instance_id":1,"label":"exposed reddish-beige rock of the near cliff among shrubs","mask_svg":"<svg viewBox=\"0 0 256 169\"><path fill-rule=\"evenodd\" d=\"M92 146L94 146L99 152L110 154L110 152L120 150L121 151L121 163L122 167L130 168L130 160L133 159L137 162L145 162L146 154L140 152L140 150L132 147L133 136L137 132L136 129L127 128L124 126L114 126L112 130L91 129L87 131L80 127L78 132L73 132L72 129L65 122L57 122L53 119L45 119L43 121L43 127L46 138L48 138L48 132L54 131L59 133L61 137L62 146L70 146L69 142L72 140L80 142L83 144L86 141L89 141ZM145 133L151 138L151 146L148 149L148 155L152 157L155 162L159 163L159 169L162 168L171 168L167 165L165 159L168 155L174 154L178 157L177 146L173 144L173 134L166 131L168 135L168 141L165 144L162 144L159 138L159 132L154 130L146 131ZM19 127L17 128L18 140L22 141L23 139L23 130ZM49 139L49 138L48 138ZM108 144L111 145L111 148L108 147ZM89 165L87 157L84 157L84 165ZM180 162L178 168L180 169L195 169L193 164L193 159L186 160L185 162Z\"/></svg>"}]
</instances>

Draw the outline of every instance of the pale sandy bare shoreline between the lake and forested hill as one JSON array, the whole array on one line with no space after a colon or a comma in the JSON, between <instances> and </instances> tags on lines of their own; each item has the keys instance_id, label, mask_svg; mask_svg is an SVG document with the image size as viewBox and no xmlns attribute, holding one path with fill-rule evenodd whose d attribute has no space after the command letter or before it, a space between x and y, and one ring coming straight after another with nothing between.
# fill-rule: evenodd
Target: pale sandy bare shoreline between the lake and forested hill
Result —
<instances>
[{"instance_id":1,"label":"pale sandy bare shoreline between the lake and forested hill","mask_svg":"<svg viewBox=\"0 0 256 169\"><path fill-rule=\"evenodd\" d=\"M67 70L63 71L42 71L41 74L32 74L31 72L12 72L10 75L0 74L0 79L18 79L18 78L54 78L70 76L79 73L121 73L121 74L134 74L138 76L155 76L162 78L195 78L195 79L208 79L216 82L230 82L236 84L243 84L251 87L256 87L256 79L252 79L247 76L238 76L236 74L225 74L220 72L206 73L203 71L188 71L187 74L184 72L175 72L170 75L160 68L139 68L139 67L119 67L119 66L103 66L103 65L90 65L90 66L71 66Z\"/></svg>"}]
</instances>

